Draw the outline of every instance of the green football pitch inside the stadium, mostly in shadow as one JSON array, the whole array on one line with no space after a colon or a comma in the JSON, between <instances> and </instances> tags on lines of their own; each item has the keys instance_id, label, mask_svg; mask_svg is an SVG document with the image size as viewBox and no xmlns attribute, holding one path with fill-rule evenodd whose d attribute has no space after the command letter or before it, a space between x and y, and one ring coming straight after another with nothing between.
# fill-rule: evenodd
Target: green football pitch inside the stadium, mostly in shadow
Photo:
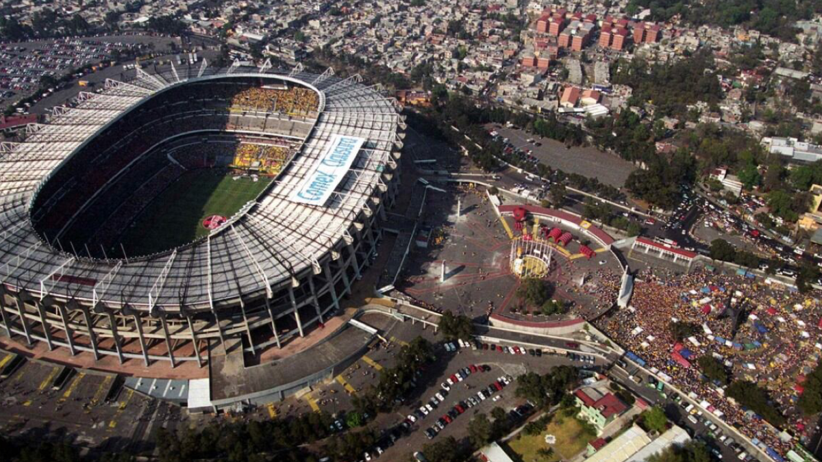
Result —
<instances>
[{"instance_id":1,"label":"green football pitch inside the stadium, mostly in shadow","mask_svg":"<svg viewBox=\"0 0 822 462\"><path fill-rule=\"evenodd\" d=\"M269 178L253 182L222 170L197 169L184 173L137 215L122 237L129 256L168 250L210 231L202 225L210 215L230 218L269 185Z\"/></svg>"}]
</instances>

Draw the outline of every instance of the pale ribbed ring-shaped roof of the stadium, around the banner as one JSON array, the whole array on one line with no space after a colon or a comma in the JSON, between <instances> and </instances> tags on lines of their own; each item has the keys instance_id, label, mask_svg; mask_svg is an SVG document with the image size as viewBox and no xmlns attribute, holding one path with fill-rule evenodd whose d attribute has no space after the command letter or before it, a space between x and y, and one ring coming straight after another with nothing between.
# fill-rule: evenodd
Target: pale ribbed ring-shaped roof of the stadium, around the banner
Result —
<instances>
[{"instance_id":1,"label":"pale ribbed ring-shaped roof of the stadium, around the banner","mask_svg":"<svg viewBox=\"0 0 822 462\"><path fill-rule=\"evenodd\" d=\"M394 99L362 85L359 76L341 79L333 72L302 72L302 67L269 71L236 65L222 70L169 67L156 74L140 70L133 81L106 81L100 93L81 92L73 107L55 108L50 123L26 127L25 142L0 144L0 282L39 298L176 311L270 294L296 284L303 271L319 273L320 260L350 243L351 234L376 209L376 196L386 189L383 170L395 165L392 151L402 146L397 127L403 122ZM291 81L320 95L311 134L289 169L245 215L199 243L131 261L65 252L35 232L30 202L37 188L95 134L160 91L242 76ZM366 144L330 199L322 206L289 201L338 134L363 138Z\"/></svg>"}]
</instances>

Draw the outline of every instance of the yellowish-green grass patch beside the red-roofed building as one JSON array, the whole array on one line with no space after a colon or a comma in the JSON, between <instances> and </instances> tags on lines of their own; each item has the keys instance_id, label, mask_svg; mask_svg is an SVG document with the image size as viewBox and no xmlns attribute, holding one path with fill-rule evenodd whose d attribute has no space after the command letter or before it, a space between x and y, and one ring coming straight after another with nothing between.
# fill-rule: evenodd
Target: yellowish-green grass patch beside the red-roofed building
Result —
<instances>
[{"instance_id":1,"label":"yellowish-green grass patch beside the red-roofed building","mask_svg":"<svg viewBox=\"0 0 822 462\"><path fill-rule=\"evenodd\" d=\"M561 416L557 413L548 423L543 432L535 437L529 437L521 432L520 435L508 441L510 454L520 456L522 462L558 462L571 460L588 446L589 441L596 437L585 432L584 427L574 417ZM556 444L549 446L545 443L545 436L556 437ZM537 453L542 448L552 447L554 452L550 457L543 457Z\"/></svg>"}]
</instances>

